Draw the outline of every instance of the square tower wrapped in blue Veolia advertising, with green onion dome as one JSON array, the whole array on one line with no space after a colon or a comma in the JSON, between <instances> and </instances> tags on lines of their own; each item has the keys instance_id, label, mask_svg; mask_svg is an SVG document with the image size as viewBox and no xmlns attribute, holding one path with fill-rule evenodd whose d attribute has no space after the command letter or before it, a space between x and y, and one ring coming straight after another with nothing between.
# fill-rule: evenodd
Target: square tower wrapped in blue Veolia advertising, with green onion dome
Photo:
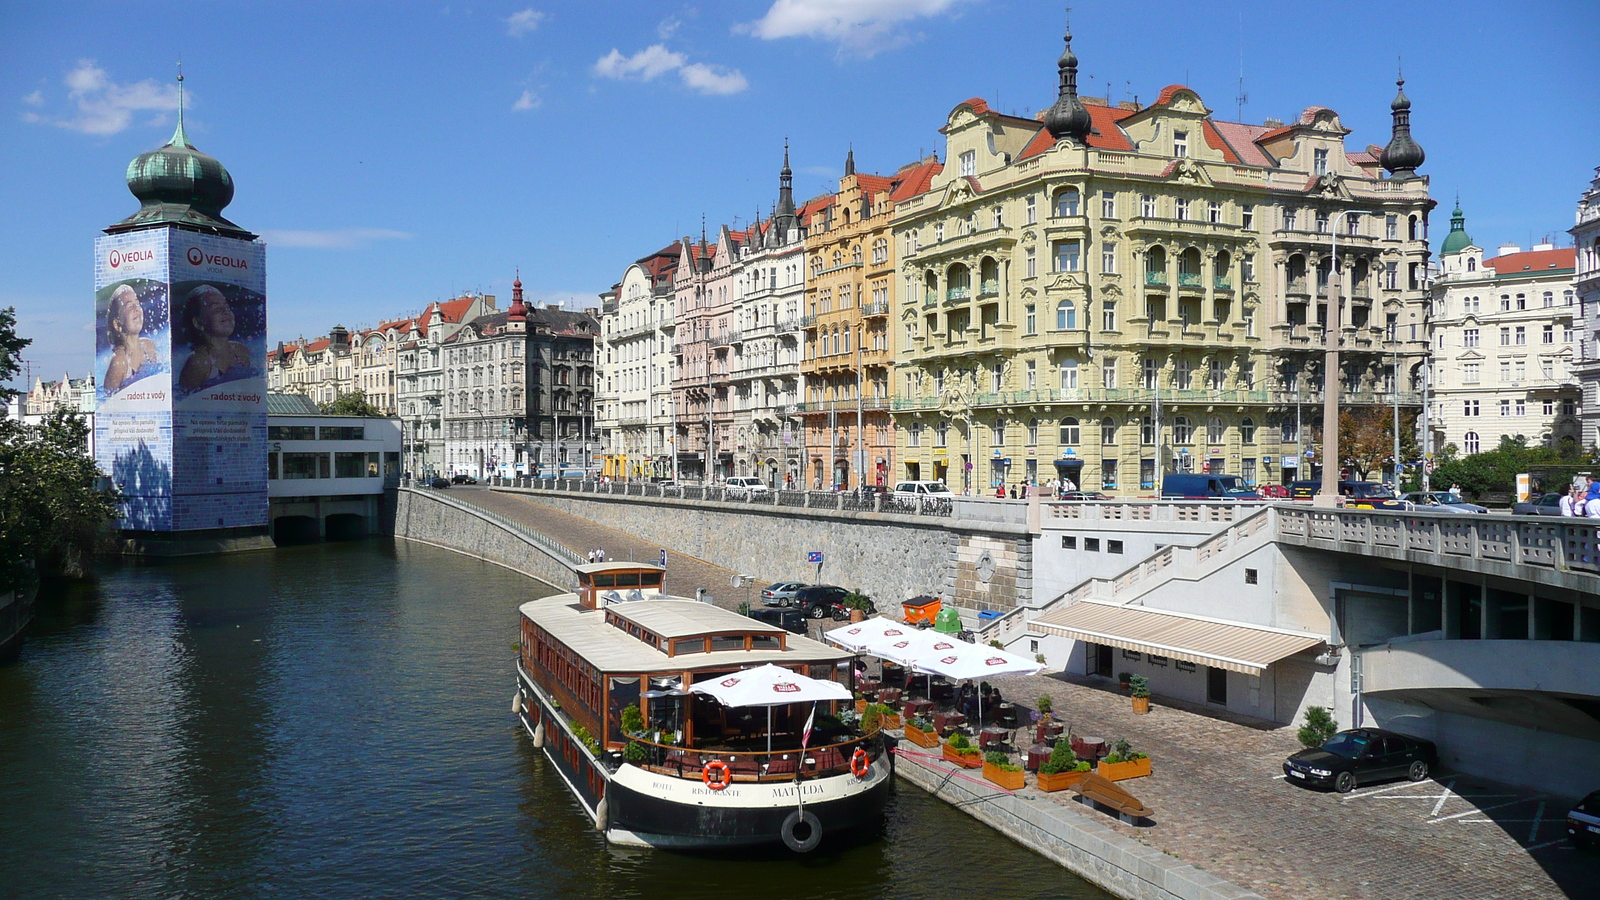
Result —
<instances>
[{"instance_id":1,"label":"square tower wrapped in blue Veolia advertising, with green onion dome","mask_svg":"<svg viewBox=\"0 0 1600 900\"><path fill-rule=\"evenodd\" d=\"M222 216L234 179L178 91L173 138L128 163L138 211L94 240L96 456L149 552L267 527L266 245Z\"/></svg>"}]
</instances>

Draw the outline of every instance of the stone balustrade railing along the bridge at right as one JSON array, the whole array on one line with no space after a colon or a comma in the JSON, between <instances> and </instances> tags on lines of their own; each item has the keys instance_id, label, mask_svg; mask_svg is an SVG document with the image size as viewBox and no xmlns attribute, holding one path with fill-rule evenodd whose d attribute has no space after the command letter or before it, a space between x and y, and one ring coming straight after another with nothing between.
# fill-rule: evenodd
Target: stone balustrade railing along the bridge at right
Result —
<instances>
[{"instance_id":1,"label":"stone balustrade railing along the bridge at right","mask_svg":"<svg viewBox=\"0 0 1600 900\"><path fill-rule=\"evenodd\" d=\"M1278 535L1338 541L1373 551L1486 559L1557 572L1600 575L1600 527L1584 519L1438 516L1376 509L1318 509L1278 504Z\"/></svg>"}]
</instances>

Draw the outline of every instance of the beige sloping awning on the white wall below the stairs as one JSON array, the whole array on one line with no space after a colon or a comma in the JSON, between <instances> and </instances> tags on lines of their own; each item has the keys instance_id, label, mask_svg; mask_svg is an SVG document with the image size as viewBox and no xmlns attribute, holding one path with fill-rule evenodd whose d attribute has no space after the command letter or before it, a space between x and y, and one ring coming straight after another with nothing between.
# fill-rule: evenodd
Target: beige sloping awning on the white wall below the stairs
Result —
<instances>
[{"instance_id":1,"label":"beige sloping awning on the white wall below the stairs","mask_svg":"<svg viewBox=\"0 0 1600 900\"><path fill-rule=\"evenodd\" d=\"M1029 621L1045 634L1122 647L1259 676L1272 663L1323 644L1301 631L1080 601Z\"/></svg>"}]
</instances>

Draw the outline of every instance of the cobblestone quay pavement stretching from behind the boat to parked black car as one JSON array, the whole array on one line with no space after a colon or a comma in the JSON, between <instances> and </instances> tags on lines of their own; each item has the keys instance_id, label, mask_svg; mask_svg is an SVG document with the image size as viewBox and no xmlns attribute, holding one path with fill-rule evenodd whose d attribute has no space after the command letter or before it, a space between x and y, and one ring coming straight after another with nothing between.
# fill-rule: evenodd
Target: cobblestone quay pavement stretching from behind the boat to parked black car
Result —
<instances>
[{"instance_id":1,"label":"cobblestone quay pavement stretching from behind the boat to parked black car","mask_svg":"<svg viewBox=\"0 0 1600 900\"><path fill-rule=\"evenodd\" d=\"M578 552L605 548L606 559L654 560L662 549L522 495L453 496L526 520ZM666 549L674 594L706 588L728 609L744 599L744 589L728 585L731 570ZM813 636L818 629L813 623ZM1571 798L1448 772L1350 794L1310 791L1283 780L1283 757L1299 749L1293 727L1202 714L1160 697L1147 716L1134 716L1126 695L1101 679L1058 673L992 681L1026 706L1050 693L1056 717L1077 735L1128 738L1150 754L1152 775L1122 786L1155 810L1154 825L1134 828L1109 815L1102 822L1264 897L1600 897L1600 854L1571 850L1565 841ZM1070 791L1035 796L1077 806Z\"/></svg>"}]
</instances>

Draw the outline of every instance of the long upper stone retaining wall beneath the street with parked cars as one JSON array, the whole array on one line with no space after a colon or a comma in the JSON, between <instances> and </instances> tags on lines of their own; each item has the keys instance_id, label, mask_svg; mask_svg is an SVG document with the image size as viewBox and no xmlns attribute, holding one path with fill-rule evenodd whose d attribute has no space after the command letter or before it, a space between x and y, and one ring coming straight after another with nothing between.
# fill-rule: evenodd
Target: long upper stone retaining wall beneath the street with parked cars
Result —
<instances>
[{"instance_id":1,"label":"long upper stone retaining wall beneath the street with parked cars","mask_svg":"<svg viewBox=\"0 0 1600 900\"><path fill-rule=\"evenodd\" d=\"M882 612L894 612L901 601L918 594L942 594L947 602L968 609L1008 610L1034 589L1034 548L1026 525L758 503L496 490L528 495L552 509L763 581L818 581L858 589ZM822 552L821 572L805 562L810 551Z\"/></svg>"}]
</instances>

